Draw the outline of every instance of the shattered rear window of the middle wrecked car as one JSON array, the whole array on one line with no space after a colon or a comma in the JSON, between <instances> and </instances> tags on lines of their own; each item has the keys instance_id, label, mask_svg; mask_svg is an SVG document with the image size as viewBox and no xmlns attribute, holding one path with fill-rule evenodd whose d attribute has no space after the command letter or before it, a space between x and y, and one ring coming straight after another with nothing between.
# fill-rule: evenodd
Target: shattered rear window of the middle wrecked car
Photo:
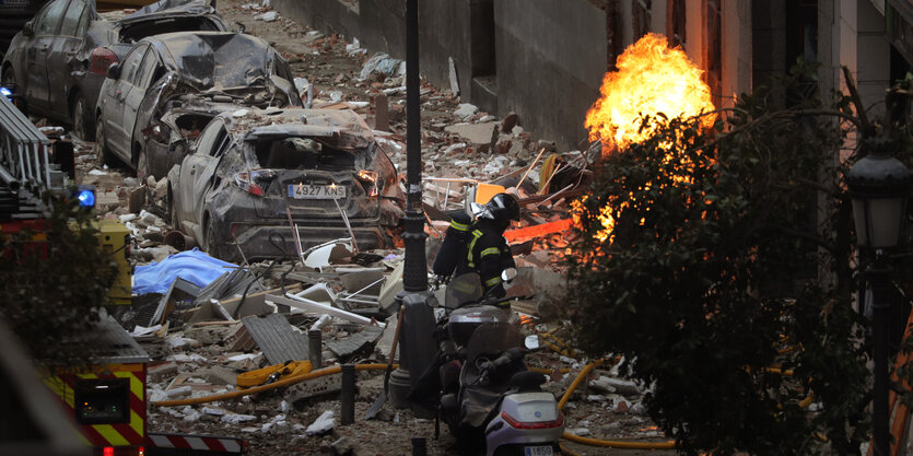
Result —
<instances>
[{"instance_id":1,"label":"shattered rear window of the middle wrecked car","mask_svg":"<svg viewBox=\"0 0 913 456\"><path fill-rule=\"evenodd\" d=\"M267 45L248 35L171 35L166 46L180 75L201 91L266 83Z\"/></svg>"}]
</instances>

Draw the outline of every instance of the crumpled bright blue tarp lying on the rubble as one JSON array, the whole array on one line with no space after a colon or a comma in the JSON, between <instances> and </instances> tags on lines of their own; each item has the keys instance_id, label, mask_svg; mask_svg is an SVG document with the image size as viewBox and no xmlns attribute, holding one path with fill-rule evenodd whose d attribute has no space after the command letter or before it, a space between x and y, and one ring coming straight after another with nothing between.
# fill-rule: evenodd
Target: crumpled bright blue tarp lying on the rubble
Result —
<instances>
[{"instance_id":1,"label":"crumpled bright blue tarp lying on the rubble","mask_svg":"<svg viewBox=\"0 0 913 456\"><path fill-rule=\"evenodd\" d=\"M133 294L165 294L176 278L182 278L203 288L237 265L212 258L199 248L182 252L133 271Z\"/></svg>"}]
</instances>

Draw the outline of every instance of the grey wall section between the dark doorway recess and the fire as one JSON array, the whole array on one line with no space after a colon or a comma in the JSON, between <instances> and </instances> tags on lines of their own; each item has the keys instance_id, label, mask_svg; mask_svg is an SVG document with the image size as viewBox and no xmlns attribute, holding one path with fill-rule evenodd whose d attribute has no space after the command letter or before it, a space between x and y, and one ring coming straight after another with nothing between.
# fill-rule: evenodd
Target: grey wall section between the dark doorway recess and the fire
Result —
<instances>
[{"instance_id":1,"label":"grey wall section between the dark doorway recess and the fire","mask_svg":"<svg viewBox=\"0 0 913 456\"><path fill-rule=\"evenodd\" d=\"M585 143L586 112L609 68L607 17L586 0L496 1L499 113L516 112L559 150Z\"/></svg>"}]
</instances>

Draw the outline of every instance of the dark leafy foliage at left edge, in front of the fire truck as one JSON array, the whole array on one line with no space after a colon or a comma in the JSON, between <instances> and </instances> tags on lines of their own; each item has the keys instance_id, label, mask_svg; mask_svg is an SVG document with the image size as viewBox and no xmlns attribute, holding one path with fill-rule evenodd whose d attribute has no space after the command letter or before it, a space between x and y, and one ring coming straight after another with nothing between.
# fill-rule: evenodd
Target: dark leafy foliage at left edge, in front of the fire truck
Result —
<instances>
[{"instance_id":1,"label":"dark leafy foliage at left edge, in front of the fire truck","mask_svg":"<svg viewBox=\"0 0 913 456\"><path fill-rule=\"evenodd\" d=\"M117 273L94 226L77 201L45 197L44 229L2 238L0 318L31 355L47 366L85 365L93 354L86 332Z\"/></svg>"}]
</instances>

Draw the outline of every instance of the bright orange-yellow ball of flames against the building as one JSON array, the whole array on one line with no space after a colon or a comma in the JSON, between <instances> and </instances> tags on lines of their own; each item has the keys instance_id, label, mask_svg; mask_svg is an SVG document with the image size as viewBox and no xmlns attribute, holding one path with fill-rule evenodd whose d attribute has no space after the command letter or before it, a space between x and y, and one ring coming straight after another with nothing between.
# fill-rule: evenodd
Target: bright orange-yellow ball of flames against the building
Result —
<instances>
[{"instance_id":1,"label":"bright orange-yellow ball of flames against the building","mask_svg":"<svg viewBox=\"0 0 913 456\"><path fill-rule=\"evenodd\" d=\"M663 35L645 35L618 57L617 66L602 79L602 97L586 113L589 139L601 141L604 153L648 138L652 130L640 130L643 115L692 117L714 109L703 71L683 50L670 49ZM712 127L714 120L706 116L702 125Z\"/></svg>"}]
</instances>

